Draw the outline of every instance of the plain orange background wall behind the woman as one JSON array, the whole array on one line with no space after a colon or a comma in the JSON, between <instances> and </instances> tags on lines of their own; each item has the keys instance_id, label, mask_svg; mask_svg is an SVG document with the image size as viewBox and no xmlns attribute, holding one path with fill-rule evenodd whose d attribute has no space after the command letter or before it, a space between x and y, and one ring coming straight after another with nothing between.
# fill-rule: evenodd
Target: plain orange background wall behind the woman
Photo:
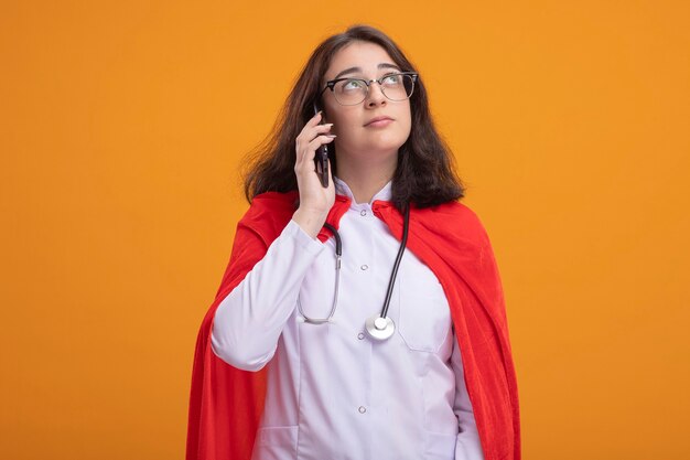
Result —
<instances>
[{"instance_id":1,"label":"plain orange background wall behind the woman","mask_svg":"<svg viewBox=\"0 0 690 460\"><path fill-rule=\"evenodd\" d=\"M688 458L690 3L651 0L6 2L0 458L183 457L237 168L354 22L492 236L525 458Z\"/></svg>"}]
</instances>

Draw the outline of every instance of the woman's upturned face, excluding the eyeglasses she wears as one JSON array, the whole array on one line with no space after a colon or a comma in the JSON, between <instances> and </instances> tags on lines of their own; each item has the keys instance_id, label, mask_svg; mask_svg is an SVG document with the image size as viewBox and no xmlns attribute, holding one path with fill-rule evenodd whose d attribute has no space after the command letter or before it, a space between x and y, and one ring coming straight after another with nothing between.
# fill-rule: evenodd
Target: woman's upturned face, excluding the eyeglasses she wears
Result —
<instances>
[{"instance_id":1,"label":"woman's upturned face, excluding the eyeglasses she wears","mask_svg":"<svg viewBox=\"0 0 690 460\"><path fill-rule=\"evenodd\" d=\"M390 73L407 71L398 67L388 53L369 42L354 42L339 50L332 58L325 82L353 77L377 79ZM338 159L348 157L366 162L396 161L398 149L410 136L410 100L390 100L381 93L378 83L371 83L366 99L354 106L343 106L334 94L323 94L326 121L333 124ZM371 124L374 118L388 120Z\"/></svg>"}]
</instances>

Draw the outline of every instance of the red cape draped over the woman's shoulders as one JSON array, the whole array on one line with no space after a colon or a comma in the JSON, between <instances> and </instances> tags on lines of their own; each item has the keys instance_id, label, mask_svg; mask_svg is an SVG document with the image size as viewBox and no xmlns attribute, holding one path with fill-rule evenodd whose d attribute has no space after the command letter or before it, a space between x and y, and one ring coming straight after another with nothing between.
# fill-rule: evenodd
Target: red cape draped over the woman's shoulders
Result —
<instances>
[{"instance_id":1,"label":"red cape draped over the woman's shoulders","mask_svg":"<svg viewBox=\"0 0 690 460\"><path fill-rule=\"evenodd\" d=\"M294 213L297 192L254 199L237 225L230 261L202 323L192 374L187 460L250 460L263 411L266 371L246 372L211 349L216 308L261 260ZM326 222L338 227L349 199L336 195ZM396 238L402 215L375 201L374 214ZM322 229L323 242L331 236ZM465 384L486 460L520 459L518 395L500 279L484 227L465 205L411 207L407 247L434 272L448 297L462 351Z\"/></svg>"}]
</instances>

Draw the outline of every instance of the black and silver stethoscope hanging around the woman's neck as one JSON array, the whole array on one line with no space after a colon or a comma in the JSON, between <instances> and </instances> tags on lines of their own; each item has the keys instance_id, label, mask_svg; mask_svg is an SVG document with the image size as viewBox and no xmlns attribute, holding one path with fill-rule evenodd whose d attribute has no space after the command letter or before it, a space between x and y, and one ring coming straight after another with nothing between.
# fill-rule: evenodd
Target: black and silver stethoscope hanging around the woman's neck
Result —
<instances>
[{"instance_id":1,"label":"black and silver stethoscope hanging around the woman's neck","mask_svg":"<svg viewBox=\"0 0 690 460\"><path fill-rule=\"evenodd\" d=\"M335 238L335 293L333 295L333 306L331 307L331 313L328 318L310 318L302 310L302 303L300 302L300 298L298 297L298 309L302 318L304 318L304 322L309 324L325 324L331 322L333 315L335 314L335 309L337 308L337 297L338 297L338 286L341 282L341 258L343 256L343 242L341 240L341 235L337 233L337 229L328 223L323 225L328 228ZM390 306L390 299L392 297L392 288L396 284L396 277L398 276L398 268L400 267L400 260L402 259L402 253L405 253L405 247L407 246L408 240L408 229L410 227L410 206L407 205L405 207L405 224L402 226L402 239L400 242L400 248L398 249L398 256L396 257L396 263L392 266L392 272L390 274L390 280L388 281L388 291L386 292L386 301L384 302L384 308L381 309L380 314L375 314L371 318L368 318L365 322L365 330L367 334L375 340L384 341L390 339L396 331L396 324L392 322L390 318L388 318L388 307Z\"/></svg>"}]
</instances>

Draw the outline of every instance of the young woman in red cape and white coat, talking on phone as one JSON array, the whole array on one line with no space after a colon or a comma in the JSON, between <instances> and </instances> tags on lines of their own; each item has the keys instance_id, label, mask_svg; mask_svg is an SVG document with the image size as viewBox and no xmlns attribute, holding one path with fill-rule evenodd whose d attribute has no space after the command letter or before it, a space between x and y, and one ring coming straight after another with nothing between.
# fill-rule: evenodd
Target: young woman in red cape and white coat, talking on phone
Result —
<instances>
[{"instance_id":1,"label":"young woman in red cape and white coat, talking on phone","mask_svg":"<svg viewBox=\"0 0 690 460\"><path fill-rule=\"evenodd\" d=\"M488 237L388 36L353 26L314 51L246 193L187 459L520 458Z\"/></svg>"}]
</instances>

